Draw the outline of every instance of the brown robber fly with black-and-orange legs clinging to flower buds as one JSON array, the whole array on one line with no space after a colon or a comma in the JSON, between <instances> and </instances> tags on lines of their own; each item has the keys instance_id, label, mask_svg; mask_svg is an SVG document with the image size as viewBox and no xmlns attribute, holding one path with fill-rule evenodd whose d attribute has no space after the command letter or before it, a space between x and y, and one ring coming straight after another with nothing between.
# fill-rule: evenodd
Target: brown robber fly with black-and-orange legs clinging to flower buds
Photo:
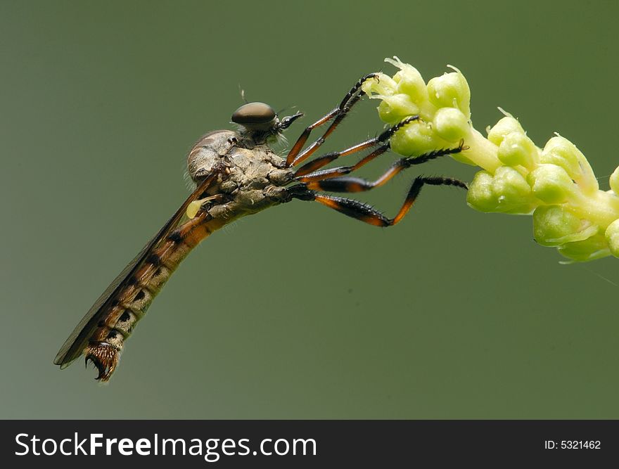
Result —
<instances>
[{"instance_id":1,"label":"brown robber fly with black-and-orange legs clinging to flower buds","mask_svg":"<svg viewBox=\"0 0 619 469\"><path fill-rule=\"evenodd\" d=\"M396 131L419 121L419 116L411 116L372 139L342 151L326 153L299 166L320 148L364 96L362 84L371 79L378 79L378 74L359 79L338 107L306 127L286 159L276 155L269 143L302 113L280 120L273 108L264 103L247 103L234 112L231 120L238 124L238 131L211 131L198 140L187 159L189 176L196 190L96 300L60 347L54 364L65 368L83 354L86 363L90 360L98 369L96 379L109 380L125 341L181 260L210 233L239 217L293 199L315 200L371 225L391 226L407 214L424 184L466 189L466 184L457 179L418 176L393 218L357 200L322 193L369 191L412 165L466 149L461 141L457 148L402 158L376 181L347 176L385 153ZM305 147L312 130L328 123L324 134ZM369 149L371 153L355 165L322 169L340 157Z\"/></svg>"}]
</instances>

